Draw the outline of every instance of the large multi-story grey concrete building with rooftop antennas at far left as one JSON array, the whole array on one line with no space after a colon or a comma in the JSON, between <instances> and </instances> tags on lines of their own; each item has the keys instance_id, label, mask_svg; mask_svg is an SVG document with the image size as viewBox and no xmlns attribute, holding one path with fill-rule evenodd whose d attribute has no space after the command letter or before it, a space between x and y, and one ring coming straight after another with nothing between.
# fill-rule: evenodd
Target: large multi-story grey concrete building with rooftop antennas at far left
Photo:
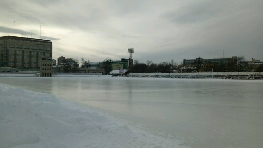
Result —
<instances>
[{"instance_id":1,"label":"large multi-story grey concrete building with rooftop antennas at far left","mask_svg":"<svg viewBox=\"0 0 263 148\"><path fill-rule=\"evenodd\" d=\"M50 40L0 37L0 67L40 69L41 57L52 59Z\"/></svg>"}]
</instances>

